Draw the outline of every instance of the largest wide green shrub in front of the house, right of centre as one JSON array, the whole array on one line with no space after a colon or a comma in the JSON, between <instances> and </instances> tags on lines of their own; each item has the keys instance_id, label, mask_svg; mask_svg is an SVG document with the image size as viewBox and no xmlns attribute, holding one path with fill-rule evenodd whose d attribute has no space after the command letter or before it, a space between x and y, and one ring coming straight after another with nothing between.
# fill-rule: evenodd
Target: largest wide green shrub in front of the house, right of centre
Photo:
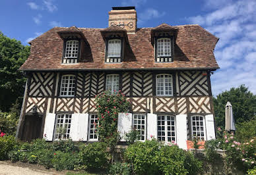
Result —
<instances>
[{"instance_id":1,"label":"largest wide green shrub in front of the house, right of centre","mask_svg":"<svg viewBox=\"0 0 256 175\"><path fill-rule=\"evenodd\" d=\"M198 174L201 162L177 145L164 145L156 139L135 142L125 151L135 174ZM195 166L195 167L193 167Z\"/></svg>"}]
</instances>

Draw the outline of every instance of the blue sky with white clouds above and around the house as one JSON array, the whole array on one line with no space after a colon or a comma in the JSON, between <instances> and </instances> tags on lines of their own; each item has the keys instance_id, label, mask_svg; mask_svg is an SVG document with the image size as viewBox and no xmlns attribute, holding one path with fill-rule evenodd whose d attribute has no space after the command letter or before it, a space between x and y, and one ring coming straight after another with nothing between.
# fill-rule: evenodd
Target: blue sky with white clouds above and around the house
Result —
<instances>
[{"instance_id":1,"label":"blue sky with white clouds above and around the house","mask_svg":"<svg viewBox=\"0 0 256 175\"><path fill-rule=\"evenodd\" d=\"M138 27L199 24L220 37L214 51L220 70L214 72L212 92L245 84L256 94L256 1L65 1L2 0L0 31L5 36L28 41L54 26L108 27L112 7L135 6Z\"/></svg>"}]
</instances>

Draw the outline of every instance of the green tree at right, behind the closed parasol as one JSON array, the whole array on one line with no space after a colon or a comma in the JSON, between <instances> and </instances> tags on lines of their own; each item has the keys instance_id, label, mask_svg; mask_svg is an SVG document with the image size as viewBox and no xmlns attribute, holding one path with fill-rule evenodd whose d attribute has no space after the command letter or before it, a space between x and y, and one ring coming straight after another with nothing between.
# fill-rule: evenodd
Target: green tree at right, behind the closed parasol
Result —
<instances>
[{"instance_id":1,"label":"green tree at right, behind the closed parasol","mask_svg":"<svg viewBox=\"0 0 256 175\"><path fill-rule=\"evenodd\" d=\"M225 106L230 101L236 124L249 121L256 114L256 95L248 91L244 85L231 88L213 98L216 126L225 126Z\"/></svg>"}]
</instances>

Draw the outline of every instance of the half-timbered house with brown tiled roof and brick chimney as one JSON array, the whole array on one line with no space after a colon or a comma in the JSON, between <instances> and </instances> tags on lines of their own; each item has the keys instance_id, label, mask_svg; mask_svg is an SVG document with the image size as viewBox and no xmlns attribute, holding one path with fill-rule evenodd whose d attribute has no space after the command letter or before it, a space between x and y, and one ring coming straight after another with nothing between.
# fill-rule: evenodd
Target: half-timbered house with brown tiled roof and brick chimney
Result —
<instances>
[{"instance_id":1,"label":"half-timbered house with brown tiled roof and brick chimney","mask_svg":"<svg viewBox=\"0 0 256 175\"><path fill-rule=\"evenodd\" d=\"M215 138L210 74L218 37L197 24L137 28L135 7L113 7L108 28L55 27L30 41L20 67L28 78L17 137L97 141L95 95L121 90L132 101L119 114L121 134L141 140ZM64 133L63 133L64 132Z\"/></svg>"}]
</instances>

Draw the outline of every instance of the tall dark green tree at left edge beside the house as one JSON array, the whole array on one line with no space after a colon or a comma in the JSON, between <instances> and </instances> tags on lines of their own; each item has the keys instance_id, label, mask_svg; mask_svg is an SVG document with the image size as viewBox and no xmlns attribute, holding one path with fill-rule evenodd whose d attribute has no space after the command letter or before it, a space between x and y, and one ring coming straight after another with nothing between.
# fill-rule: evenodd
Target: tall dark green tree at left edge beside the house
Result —
<instances>
[{"instance_id":1,"label":"tall dark green tree at left edge beside the house","mask_svg":"<svg viewBox=\"0 0 256 175\"><path fill-rule=\"evenodd\" d=\"M18 68L30 55L30 47L0 32L0 111L9 111L16 99L21 103L26 78Z\"/></svg>"}]
</instances>

